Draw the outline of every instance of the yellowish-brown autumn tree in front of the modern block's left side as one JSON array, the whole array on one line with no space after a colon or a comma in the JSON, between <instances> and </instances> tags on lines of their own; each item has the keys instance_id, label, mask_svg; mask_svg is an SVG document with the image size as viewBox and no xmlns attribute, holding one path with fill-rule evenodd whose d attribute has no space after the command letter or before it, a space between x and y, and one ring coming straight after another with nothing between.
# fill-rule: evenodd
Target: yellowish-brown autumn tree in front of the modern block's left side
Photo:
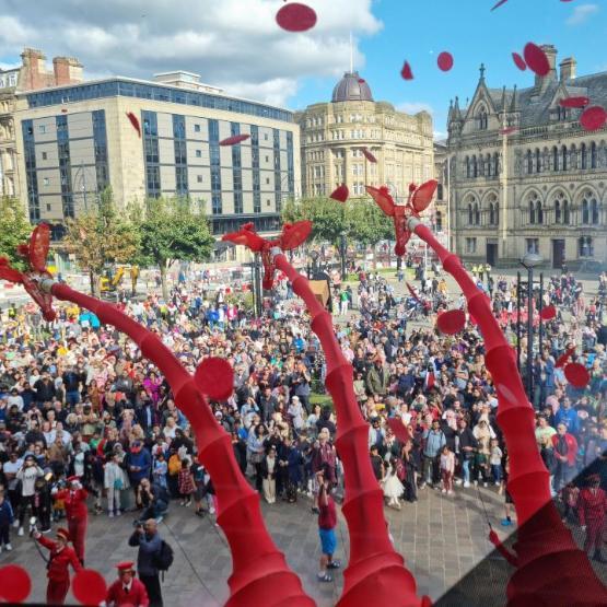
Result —
<instances>
[{"instance_id":1,"label":"yellowish-brown autumn tree in front of the modern block's left side","mask_svg":"<svg viewBox=\"0 0 607 607\"><path fill-rule=\"evenodd\" d=\"M114 203L112 188L100 196L98 205L67 222L63 241L81 269L89 272L91 293L98 295L98 279L107 264L131 261L139 250L139 234Z\"/></svg>"}]
</instances>

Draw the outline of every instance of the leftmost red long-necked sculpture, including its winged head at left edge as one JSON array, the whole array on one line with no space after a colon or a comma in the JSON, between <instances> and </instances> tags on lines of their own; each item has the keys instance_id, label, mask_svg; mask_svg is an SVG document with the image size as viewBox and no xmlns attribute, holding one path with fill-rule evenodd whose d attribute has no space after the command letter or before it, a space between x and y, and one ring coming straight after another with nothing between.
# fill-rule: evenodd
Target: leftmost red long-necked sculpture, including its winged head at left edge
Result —
<instances>
[{"instance_id":1,"label":"leftmost red long-necked sculpture, including its winged head at left edge","mask_svg":"<svg viewBox=\"0 0 607 607\"><path fill-rule=\"evenodd\" d=\"M232 552L233 571L230 580L230 607L252 605L312 607L314 600L304 592L300 579L288 567L284 555L271 539L259 507L259 495L252 489L238 468L230 435L217 422L206 395L205 365L198 367L192 377L162 340L143 328L116 306L56 282L46 270L49 246L48 226L38 225L30 242L19 253L28 260L23 272L0 259L0 279L21 283L40 306L44 317L55 318L52 296L66 300L94 312L102 323L113 325L127 334L164 374L177 407L187 417L196 434L198 459L209 470L219 502L218 523L221 525ZM213 361L215 381L222 385L233 383L232 371L226 361ZM217 373L219 367L219 373ZM207 394L210 390L205 390ZM227 390L229 393L231 389ZM268 587L271 592L268 592Z\"/></svg>"}]
</instances>

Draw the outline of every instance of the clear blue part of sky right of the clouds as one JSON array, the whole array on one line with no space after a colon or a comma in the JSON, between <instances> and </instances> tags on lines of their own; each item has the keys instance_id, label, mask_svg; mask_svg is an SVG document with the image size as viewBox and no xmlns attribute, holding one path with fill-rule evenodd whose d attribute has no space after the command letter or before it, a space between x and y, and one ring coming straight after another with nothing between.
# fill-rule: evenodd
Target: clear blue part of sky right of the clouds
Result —
<instances>
[{"instance_id":1,"label":"clear blue part of sky right of the clouds","mask_svg":"<svg viewBox=\"0 0 607 607\"><path fill-rule=\"evenodd\" d=\"M511 58L511 52L522 52L527 42L553 44L559 50L558 61L573 55L579 74L607 70L607 3L603 0L509 0L491 12L494 0L374 2L373 14L382 21L383 30L358 38L365 56L360 72L374 97L407 109L432 108L434 130L444 132L450 98L459 95L464 103L472 96L481 62L491 87L533 83L533 74L521 72ZM447 73L436 68L442 50L455 58ZM404 59L412 66L412 81L399 77ZM304 78L290 105L301 107L327 100L332 85L331 78Z\"/></svg>"}]
</instances>

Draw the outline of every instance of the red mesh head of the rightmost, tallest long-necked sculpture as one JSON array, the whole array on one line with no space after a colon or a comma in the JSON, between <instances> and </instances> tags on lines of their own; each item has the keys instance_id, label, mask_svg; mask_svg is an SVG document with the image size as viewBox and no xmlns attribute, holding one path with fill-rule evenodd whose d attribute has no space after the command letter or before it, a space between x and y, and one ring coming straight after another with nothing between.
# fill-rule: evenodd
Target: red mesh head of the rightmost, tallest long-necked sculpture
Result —
<instances>
[{"instance_id":1,"label":"red mesh head of the rightmost, tallest long-necked sculpture","mask_svg":"<svg viewBox=\"0 0 607 607\"><path fill-rule=\"evenodd\" d=\"M381 188L366 186L367 194L375 200L380 209L382 209L386 215L394 219L394 230L396 234L394 253L399 257L405 255L407 243L411 237L411 232L407 227L409 218L419 218L419 213L429 207L437 185L439 183L435 179L425 182L425 184L422 184L420 187L417 187L416 184L410 184L407 205L397 205L386 186L382 186Z\"/></svg>"}]
</instances>

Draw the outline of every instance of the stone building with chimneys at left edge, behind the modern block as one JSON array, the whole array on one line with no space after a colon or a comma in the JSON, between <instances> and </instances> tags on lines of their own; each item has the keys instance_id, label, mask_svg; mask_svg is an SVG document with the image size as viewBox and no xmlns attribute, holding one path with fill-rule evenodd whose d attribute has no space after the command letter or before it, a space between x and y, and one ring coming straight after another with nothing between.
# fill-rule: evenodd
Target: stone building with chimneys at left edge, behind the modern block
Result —
<instances>
[{"instance_id":1,"label":"stone building with chimneys at left edge, behind the modern block","mask_svg":"<svg viewBox=\"0 0 607 607\"><path fill-rule=\"evenodd\" d=\"M82 66L71 57L55 57L52 70L46 66L40 50L25 48L22 65L0 70L0 196L20 197L20 163L16 159L14 112L17 91L35 91L45 86L82 81Z\"/></svg>"}]
</instances>

